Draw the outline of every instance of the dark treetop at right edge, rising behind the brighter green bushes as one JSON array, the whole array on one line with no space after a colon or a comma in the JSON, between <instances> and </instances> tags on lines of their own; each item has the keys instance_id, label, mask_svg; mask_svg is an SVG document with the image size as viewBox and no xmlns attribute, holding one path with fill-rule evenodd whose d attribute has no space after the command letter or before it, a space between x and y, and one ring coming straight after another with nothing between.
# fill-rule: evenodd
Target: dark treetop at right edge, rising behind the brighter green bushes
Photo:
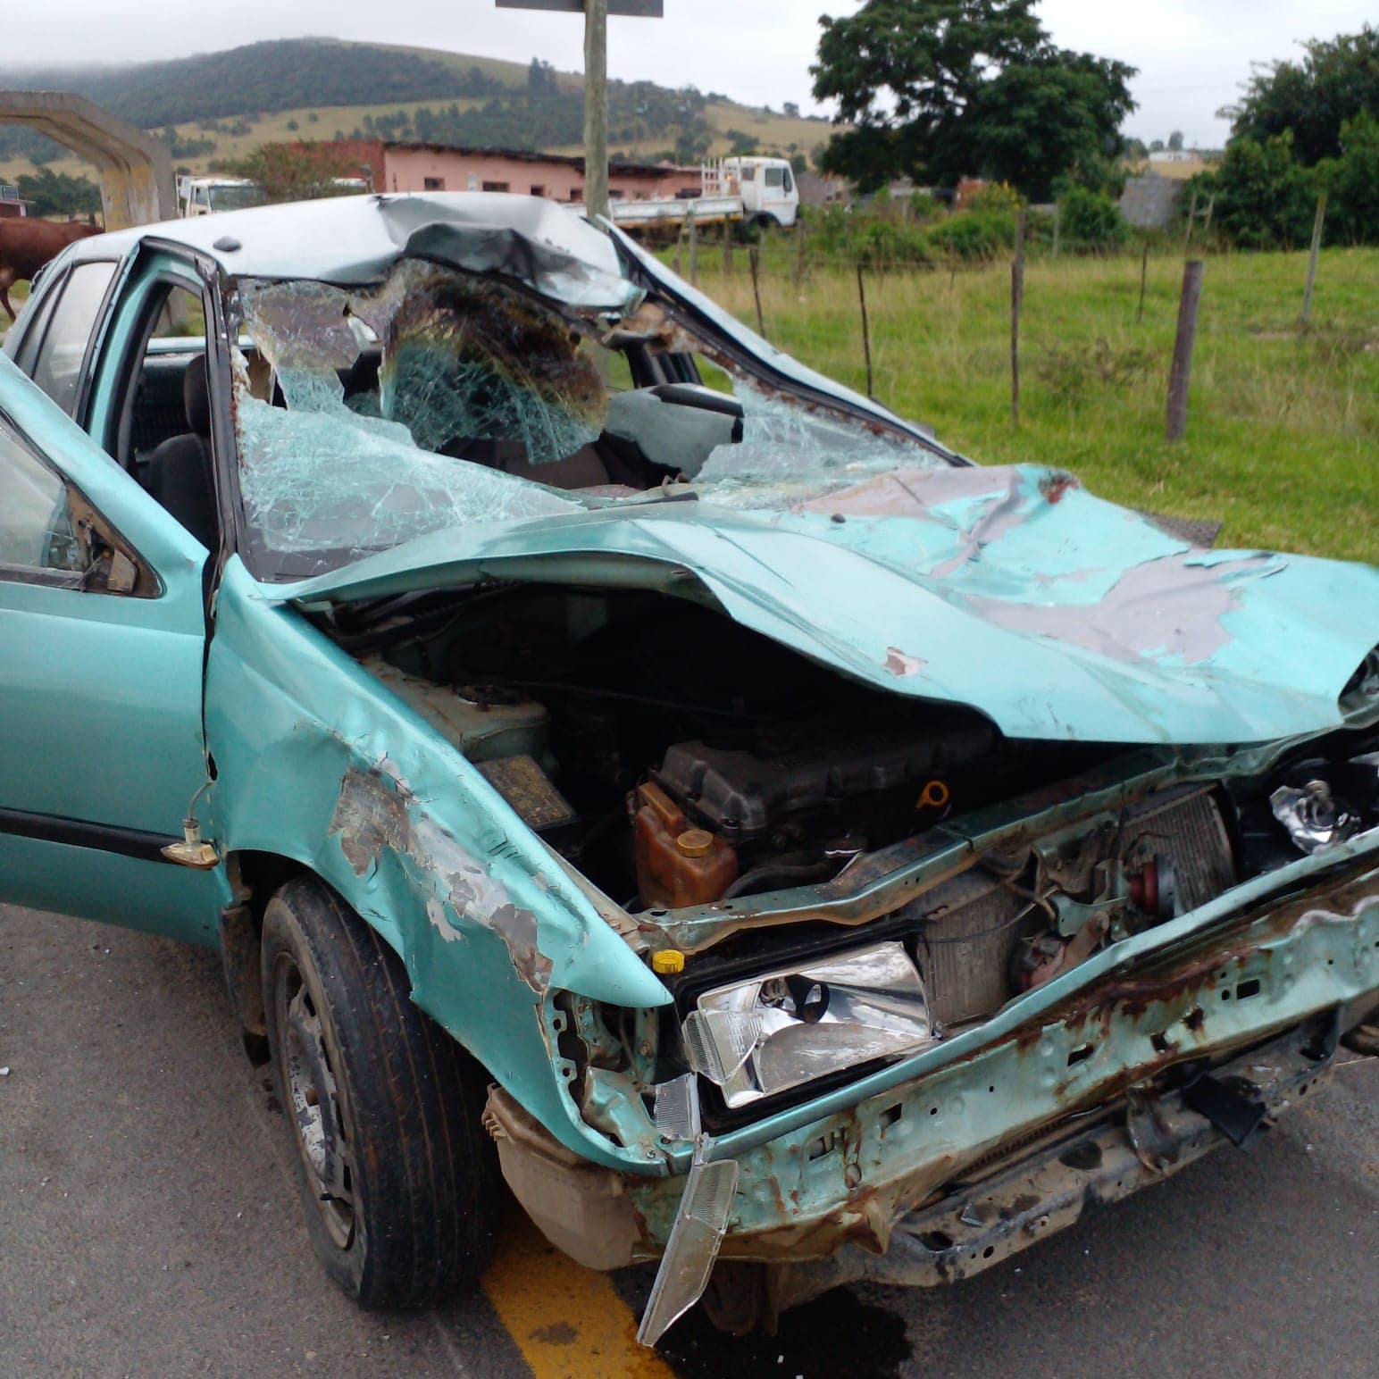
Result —
<instances>
[{"instance_id":1,"label":"dark treetop at right edge, rising behind the brighter green bushes","mask_svg":"<svg viewBox=\"0 0 1379 1379\"><path fill-rule=\"evenodd\" d=\"M1362 110L1379 113L1379 30L1313 39L1299 62L1256 72L1233 117L1236 138L1266 141L1292 130L1294 153L1307 167L1340 156L1340 127Z\"/></svg>"}]
</instances>

